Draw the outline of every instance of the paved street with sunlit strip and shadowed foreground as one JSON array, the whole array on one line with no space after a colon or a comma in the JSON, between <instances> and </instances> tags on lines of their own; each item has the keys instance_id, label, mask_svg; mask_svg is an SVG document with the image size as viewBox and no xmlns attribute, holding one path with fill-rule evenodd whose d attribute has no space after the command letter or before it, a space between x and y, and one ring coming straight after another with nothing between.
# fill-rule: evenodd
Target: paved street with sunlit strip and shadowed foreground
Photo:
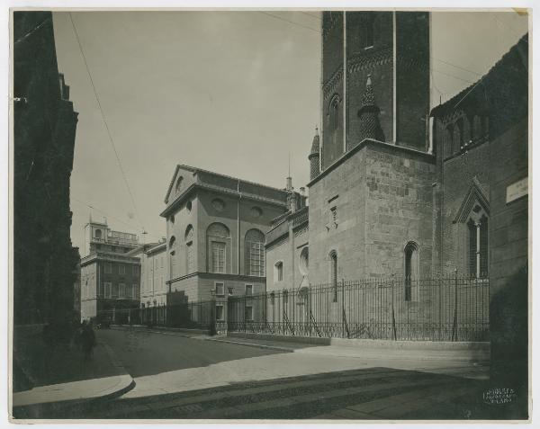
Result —
<instances>
[{"instance_id":1,"label":"paved street with sunlit strip and shadowed foreground","mask_svg":"<svg viewBox=\"0 0 540 429\"><path fill-rule=\"evenodd\" d=\"M61 417L121 419L497 418L482 403L484 380L464 362L366 361L329 348L295 353L110 330L99 334L137 385L121 398ZM323 352L324 351L324 352ZM415 367L416 365L416 367Z\"/></svg>"}]
</instances>

